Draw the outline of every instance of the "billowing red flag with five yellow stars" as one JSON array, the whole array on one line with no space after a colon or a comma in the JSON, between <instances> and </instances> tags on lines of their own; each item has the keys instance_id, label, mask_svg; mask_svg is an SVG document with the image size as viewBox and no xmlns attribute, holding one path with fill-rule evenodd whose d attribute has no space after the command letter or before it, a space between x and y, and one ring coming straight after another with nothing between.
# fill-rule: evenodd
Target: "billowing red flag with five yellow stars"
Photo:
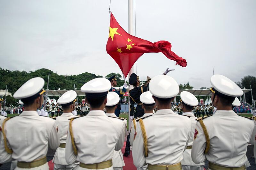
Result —
<instances>
[{"instance_id":1,"label":"billowing red flag with five yellow stars","mask_svg":"<svg viewBox=\"0 0 256 170\"><path fill-rule=\"evenodd\" d=\"M128 75L133 64L144 53L162 52L167 58L176 61L176 64L186 67L186 60L172 52L171 48L172 45L168 41L152 43L126 33L111 13L106 50L116 61L125 77Z\"/></svg>"}]
</instances>

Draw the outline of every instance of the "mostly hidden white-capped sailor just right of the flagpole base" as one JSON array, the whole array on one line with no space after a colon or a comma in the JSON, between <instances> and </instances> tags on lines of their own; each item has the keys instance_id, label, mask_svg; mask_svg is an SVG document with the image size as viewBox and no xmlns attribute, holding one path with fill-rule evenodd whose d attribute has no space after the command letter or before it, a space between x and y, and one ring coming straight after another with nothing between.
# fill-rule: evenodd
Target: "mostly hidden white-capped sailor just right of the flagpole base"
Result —
<instances>
[{"instance_id":1,"label":"mostly hidden white-capped sailor just right of the flagpole base","mask_svg":"<svg viewBox=\"0 0 256 170\"><path fill-rule=\"evenodd\" d=\"M142 108L144 109L144 115L141 118L147 117L149 115L153 115L154 109L156 108L156 103L152 97L151 92L143 92L140 95L140 101L142 103ZM139 118L136 118L136 119L139 119ZM136 122L136 119L133 119L131 124L131 132L130 132L130 139L129 139L131 146L133 145L133 141L136 136L136 127L138 123ZM143 167L137 168L137 170L146 170L147 167L148 165L145 165Z\"/></svg>"}]
</instances>

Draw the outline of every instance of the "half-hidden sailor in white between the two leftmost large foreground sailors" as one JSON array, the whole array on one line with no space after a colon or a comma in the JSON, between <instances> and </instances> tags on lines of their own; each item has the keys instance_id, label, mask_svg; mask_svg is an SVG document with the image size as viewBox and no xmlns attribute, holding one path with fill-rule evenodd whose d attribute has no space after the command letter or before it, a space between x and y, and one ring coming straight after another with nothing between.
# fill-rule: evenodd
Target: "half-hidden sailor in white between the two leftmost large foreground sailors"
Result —
<instances>
[{"instance_id":1,"label":"half-hidden sailor in white between the two leftmost large foreground sailors","mask_svg":"<svg viewBox=\"0 0 256 170\"><path fill-rule=\"evenodd\" d=\"M60 146L57 148L55 155L52 159L52 162L54 163L54 170L74 170L79 166L78 163L68 165L68 163L65 160L65 146L68 133L69 119L73 117L78 117L76 115L73 115L72 113L72 111L74 111L75 109L76 96L76 92L74 90L70 90L61 95L57 101L63 108L63 114L60 116L56 116L55 121L56 126L58 127Z\"/></svg>"}]
</instances>

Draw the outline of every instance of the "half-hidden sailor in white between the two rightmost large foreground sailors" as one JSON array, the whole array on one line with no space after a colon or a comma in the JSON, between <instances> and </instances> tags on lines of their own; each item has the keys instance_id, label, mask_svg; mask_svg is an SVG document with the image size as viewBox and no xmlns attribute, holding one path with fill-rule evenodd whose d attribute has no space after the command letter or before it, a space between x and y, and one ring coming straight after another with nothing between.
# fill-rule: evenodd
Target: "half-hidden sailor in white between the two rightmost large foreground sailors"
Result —
<instances>
[{"instance_id":1,"label":"half-hidden sailor in white between the two rightmost large foreground sailors","mask_svg":"<svg viewBox=\"0 0 256 170\"><path fill-rule=\"evenodd\" d=\"M181 108L183 110L183 114L188 116L192 122L192 133L195 132L196 129L196 119L197 117L192 113L192 110L195 106L198 105L198 100L196 97L190 92L181 92L180 93L180 101L181 101ZM183 159L181 161L182 169L183 170L204 170L204 162L200 164L196 164L192 161L191 158L191 149L193 146L194 135L191 135L189 138L188 146L183 152Z\"/></svg>"}]
</instances>

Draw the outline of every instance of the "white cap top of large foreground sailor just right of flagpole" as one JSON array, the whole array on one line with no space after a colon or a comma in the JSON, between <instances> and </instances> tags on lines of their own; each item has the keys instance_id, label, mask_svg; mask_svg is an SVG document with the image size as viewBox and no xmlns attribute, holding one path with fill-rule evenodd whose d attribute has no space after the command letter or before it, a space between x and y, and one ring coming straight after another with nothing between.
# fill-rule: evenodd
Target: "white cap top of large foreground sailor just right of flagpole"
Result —
<instances>
[{"instance_id":1,"label":"white cap top of large foreground sailor just right of flagpole","mask_svg":"<svg viewBox=\"0 0 256 170\"><path fill-rule=\"evenodd\" d=\"M149 91L161 99L168 99L179 93L178 83L170 76L159 75L150 80Z\"/></svg>"}]
</instances>

